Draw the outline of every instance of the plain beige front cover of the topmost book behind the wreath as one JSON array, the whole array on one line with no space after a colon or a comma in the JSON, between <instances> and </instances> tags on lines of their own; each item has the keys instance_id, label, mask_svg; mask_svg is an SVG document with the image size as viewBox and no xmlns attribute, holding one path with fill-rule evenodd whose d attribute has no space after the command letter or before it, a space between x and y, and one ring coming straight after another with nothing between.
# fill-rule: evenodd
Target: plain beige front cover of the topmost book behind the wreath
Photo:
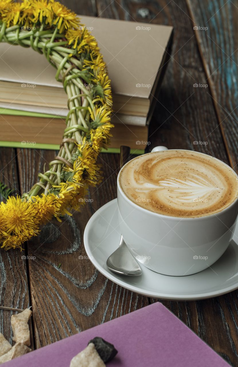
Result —
<instances>
[{"instance_id":1,"label":"plain beige front cover of the topmost book behind the wreath","mask_svg":"<svg viewBox=\"0 0 238 367\"><path fill-rule=\"evenodd\" d=\"M173 28L79 17L98 41L112 80L113 95L149 98ZM0 56L0 80L62 88L55 80L55 69L44 55L31 48L1 43Z\"/></svg>"}]
</instances>

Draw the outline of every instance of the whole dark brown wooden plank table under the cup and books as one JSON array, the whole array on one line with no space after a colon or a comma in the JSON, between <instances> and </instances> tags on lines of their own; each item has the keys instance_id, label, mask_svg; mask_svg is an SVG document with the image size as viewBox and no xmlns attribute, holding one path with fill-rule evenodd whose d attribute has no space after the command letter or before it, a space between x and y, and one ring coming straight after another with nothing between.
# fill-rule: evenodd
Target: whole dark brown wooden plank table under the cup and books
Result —
<instances>
[{"instance_id":1,"label":"whole dark brown wooden plank table under the cup and books","mask_svg":"<svg viewBox=\"0 0 238 367\"><path fill-rule=\"evenodd\" d=\"M65 4L77 14L173 25L171 61L150 126L149 148L196 150L237 170L237 2L71 0ZM25 192L54 155L47 150L1 148L0 181L15 194ZM116 197L119 155L101 154L99 162L104 182L91 189L92 203L61 224L56 220L47 224L39 237L25 244L26 254L35 260L23 260L17 250L0 251L1 305L32 305L32 348L40 348L160 301L232 366L238 366L237 291L196 302L151 299L112 283L88 259L79 260L79 255L86 254L87 221ZM0 331L11 342L10 316L10 311L0 310Z\"/></svg>"}]
</instances>

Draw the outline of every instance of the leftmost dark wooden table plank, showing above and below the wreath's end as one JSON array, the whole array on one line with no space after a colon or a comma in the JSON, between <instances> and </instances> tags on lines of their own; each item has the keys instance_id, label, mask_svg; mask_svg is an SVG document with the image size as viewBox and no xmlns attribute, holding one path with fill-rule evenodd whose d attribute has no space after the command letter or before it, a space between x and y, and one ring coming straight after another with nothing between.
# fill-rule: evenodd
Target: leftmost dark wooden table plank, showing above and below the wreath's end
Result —
<instances>
[{"instance_id":1,"label":"leftmost dark wooden table plank, showing above and below the wreath's end","mask_svg":"<svg viewBox=\"0 0 238 367\"><path fill-rule=\"evenodd\" d=\"M17 151L0 148L0 181L19 195ZM2 197L0 197L3 200ZM26 252L27 254L27 252ZM28 291L27 261L24 252L0 249L0 305L25 309L31 305ZM11 315L16 312L0 309L0 332L12 344ZM31 348L34 349L32 322L30 320Z\"/></svg>"}]
</instances>

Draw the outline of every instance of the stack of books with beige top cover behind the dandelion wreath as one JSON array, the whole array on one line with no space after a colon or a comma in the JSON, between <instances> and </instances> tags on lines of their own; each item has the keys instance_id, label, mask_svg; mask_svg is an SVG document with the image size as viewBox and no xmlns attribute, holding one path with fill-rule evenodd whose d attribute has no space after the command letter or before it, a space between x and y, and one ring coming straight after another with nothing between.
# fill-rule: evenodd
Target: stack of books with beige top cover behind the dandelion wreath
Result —
<instances>
[{"instance_id":1,"label":"stack of books with beige top cover behind the dandelion wreath","mask_svg":"<svg viewBox=\"0 0 238 367\"><path fill-rule=\"evenodd\" d=\"M128 145L141 154L148 144L173 28L79 17L97 39L112 81L115 127L108 152ZM31 48L1 43L0 70L0 146L58 149L68 109L55 68Z\"/></svg>"}]
</instances>

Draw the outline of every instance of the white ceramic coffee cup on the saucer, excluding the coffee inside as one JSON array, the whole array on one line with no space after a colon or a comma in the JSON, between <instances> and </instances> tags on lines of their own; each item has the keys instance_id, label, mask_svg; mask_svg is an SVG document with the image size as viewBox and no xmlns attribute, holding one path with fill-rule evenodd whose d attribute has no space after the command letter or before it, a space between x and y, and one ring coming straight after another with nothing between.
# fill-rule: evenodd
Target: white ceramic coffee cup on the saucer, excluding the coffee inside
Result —
<instances>
[{"instance_id":1,"label":"white ceramic coffee cup on the saucer, excluding the coffee inside","mask_svg":"<svg viewBox=\"0 0 238 367\"><path fill-rule=\"evenodd\" d=\"M165 149L156 147L152 152ZM191 275L211 266L226 251L236 224L238 198L215 214L170 217L133 203L120 187L120 172L117 180L120 231L141 264L165 275Z\"/></svg>"}]
</instances>

